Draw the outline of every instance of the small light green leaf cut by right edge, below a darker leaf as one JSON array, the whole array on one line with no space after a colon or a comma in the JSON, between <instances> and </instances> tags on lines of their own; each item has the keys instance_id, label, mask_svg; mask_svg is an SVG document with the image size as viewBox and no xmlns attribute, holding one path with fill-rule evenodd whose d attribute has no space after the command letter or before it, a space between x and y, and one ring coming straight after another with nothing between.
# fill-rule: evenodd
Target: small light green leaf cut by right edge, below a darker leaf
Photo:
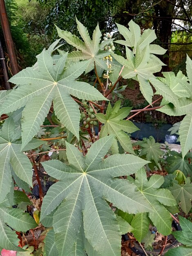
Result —
<instances>
[{"instance_id":1,"label":"small light green leaf cut by right edge, below a darker leaf","mask_svg":"<svg viewBox=\"0 0 192 256\"><path fill-rule=\"evenodd\" d=\"M181 209L188 214L191 209L192 200L192 184L190 183L190 177L187 177L185 184L178 184L176 180L173 180L173 186L169 187L169 190L173 194L176 202L181 202Z\"/></svg>"}]
</instances>

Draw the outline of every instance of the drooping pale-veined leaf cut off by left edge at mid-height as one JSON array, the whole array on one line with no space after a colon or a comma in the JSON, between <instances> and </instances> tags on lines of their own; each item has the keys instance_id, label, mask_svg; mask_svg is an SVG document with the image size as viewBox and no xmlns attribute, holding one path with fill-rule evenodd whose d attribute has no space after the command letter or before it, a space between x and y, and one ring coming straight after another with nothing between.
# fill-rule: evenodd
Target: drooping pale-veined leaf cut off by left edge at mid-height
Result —
<instances>
[{"instance_id":1,"label":"drooping pale-veined leaf cut off by left edge at mid-height","mask_svg":"<svg viewBox=\"0 0 192 256\"><path fill-rule=\"evenodd\" d=\"M15 132L15 127L13 119L9 117L0 132L0 202L11 188L11 168L21 180L32 186L32 166L28 157L20 152L20 132Z\"/></svg>"}]
</instances>

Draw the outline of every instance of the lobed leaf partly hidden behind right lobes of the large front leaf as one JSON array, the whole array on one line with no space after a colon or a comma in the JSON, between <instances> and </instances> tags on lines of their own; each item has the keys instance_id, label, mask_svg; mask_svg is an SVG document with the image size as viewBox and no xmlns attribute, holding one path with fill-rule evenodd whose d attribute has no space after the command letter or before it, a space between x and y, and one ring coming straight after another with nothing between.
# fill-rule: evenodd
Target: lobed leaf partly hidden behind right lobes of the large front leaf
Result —
<instances>
[{"instance_id":1,"label":"lobed leaf partly hidden behind right lobes of the large front leaf","mask_svg":"<svg viewBox=\"0 0 192 256\"><path fill-rule=\"evenodd\" d=\"M163 235L170 234L172 218L163 204L165 206L174 206L176 201L168 189L158 189L164 182L163 177L161 175L153 175L148 181L145 169L141 168L136 173L136 180L133 182L151 204L153 213L149 213L148 217L152 220L157 230Z\"/></svg>"}]
</instances>

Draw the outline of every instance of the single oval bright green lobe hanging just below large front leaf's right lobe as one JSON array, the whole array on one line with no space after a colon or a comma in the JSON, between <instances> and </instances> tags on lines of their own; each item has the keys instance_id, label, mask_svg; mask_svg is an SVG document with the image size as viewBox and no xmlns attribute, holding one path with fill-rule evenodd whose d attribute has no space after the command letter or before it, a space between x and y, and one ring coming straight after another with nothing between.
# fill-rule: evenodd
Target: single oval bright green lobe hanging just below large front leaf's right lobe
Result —
<instances>
[{"instance_id":1,"label":"single oval bright green lobe hanging just below large front leaf's right lobe","mask_svg":"<svg viewBox=\"0 0 192 256\"><path fill-rule=\"evenodd\" d=\"M132 233L134 234L134 237L141 243L141 240L143 240L149 230L150 219L147 213L137 213L134 216L131 225L133 227Z\"/></svg>"}]
</instances>

